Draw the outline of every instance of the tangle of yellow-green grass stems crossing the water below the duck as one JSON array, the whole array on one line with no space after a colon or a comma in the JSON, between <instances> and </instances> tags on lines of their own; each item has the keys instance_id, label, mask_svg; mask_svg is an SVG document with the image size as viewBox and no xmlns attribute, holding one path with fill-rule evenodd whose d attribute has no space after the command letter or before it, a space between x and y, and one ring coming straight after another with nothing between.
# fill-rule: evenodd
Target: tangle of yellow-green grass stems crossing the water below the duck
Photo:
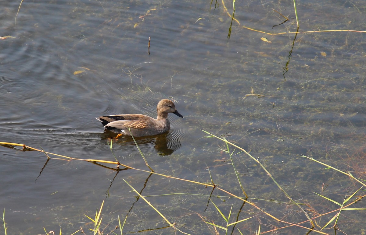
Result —
<instances>
[{"instance_id":1,"label":"tangle of yellow-green grass stems crossing the water below the duck","mask_svg":"<svg viewBox=\"0 0 366 235\"><path fill-rule=\"evenodd\" d=\"M273 220L276 220L278 223L283 223L283 227L276 227L276 228L273 228L272 230L268 230L268 231L261 231L261 224L259 224L259 227L257 229L257 232L256 234L266 234L266 233L269 233L269 232L274 232L276 230L281 230L281 229L284 229L284 228L289 228L289 227L293 227L293 226L296 226L296 227L299 227L299 228L302 228L302 229L305 229L307 230L307 234L309 234L310 232L316 232L318 234L327 234L326 232L323 232L322 230L324 230L324 228L328 227L329 224L333 223L332 227L334 228L335 232L337 230L337 222L339 220L339 216L341 215L341 212L343 211L349 211L349 210L365 210L366 208L349 208L352 204L355 204L356 202L360 201L363 197L365 197L366 195L362 195L362 196L358 196L356 197L355 194L359 192L359 190L362 189L362 187L366 187L366 184L364 183L364 181L358 179L358 178L355 178L349 171L342 171L342 170L339 170L335 167L332 167L328 164L325 164L325 163L322 163L318 160L315 160L313 158L309 158L307 156L304 156L304 155L301 155L302 157L304 158L307 158L307 159L310 159L314 162L317 162L319 164L322 164L324 166L327 167L327 169L332 169L332 170L335 170L335 171L338 171L339 173L342 173L344 175L347 175L348 177L350 177L351 179L353 179L354 181L358 182L360 185L362 185L358 190L356 190L352 195L348 196L348 197L345 197L344 198L344 201L342 203L339 203L337 201L334 201L328 197L325 197L325 196L322 196L320 194L317 194L318 196L322 197L322 198L325 198L326 200L329 200L331 202L333 202L334 204L336 204L337 206L339 206L338 209L335 209L333 211L329 211L329 212L326 212L326 213L322 213L322 214L318 214L317 216L313 216L312 219L309 217L309 215L305 212L305 210L298 204L296 203L292 198L291 196L283 189L283 187L281 187L281 185L279 185L279 183L277 183L277 181L275 180L275 178L273 178L272 174L270 174L270 172L265 168L265 166L263 166L263 164L257 159L257 158L254 158L249 152L247 152L245 149L239 147L238 145L235 145L233 143L231 143L230 141L228 141L227 139L225 139L225 137L221 136L215 136L214 134L211 134L209 132L206 132L205 130L202 130L203 132L205 132L207 134L207 138L216 138L216 139L219 139L220 141L222 141L223 143L225 143L225 146L226 146L226 149L220 149L221 151L227 153L229 155L229 158L230 158L230 161L232 164L232 167L233 167L233 170L234 170L234 173L236 175L236 178L238 180L238 183L240 185L240 188L242 190L242 193L244 195L243 196L238 196L238 195L235 195L221 187L219 187L217 184L214 183L214 179L212 178L212 175L210 174L210 170L208 168L208 173L210 175L210 179L211 179L211 183L202 183L202 182L197 182L197 181L191 181L191 180L187 180L187 179L182 179L182 178L177 178L177 177L172 177L170 175L165 175L165 174L160 174L160 173L157 173L155 172L150 166L149 164L147 163L147 160L145 158L145 156L143 155L141 149L139 148L138 144L136 143L135 139L135 144L143 158L143 160L145 161L145 164L146 166L150 169L150 171L147 171L147 170L142 170L142 169L138 169L138 168L134 168L134 167L131 167L131 166L127 166L125 164L122 164L120 163L115 154L113 153L112 151L112 141L110 142L109 144L109 147L111 149L111 152L114 156L114 158L116 159L116 162L113 162L113 161L106 161L106 160L98 160L98 159L79 159L79 158L71 158L71 157L68 157L68 156L64 156L64 155L59 155L59 154L55 154L55 153L51 153L51 152L46 152L44 151L42 148L41 150L40 149L36 149L36 148L32 148L32 147L29 147L27 145L24 145L24 144L17 144L17 143L7 143L7 142L0 142L1 145L4 145L4 146L7 146L7 147L12 147L12 148L15 148L15 146L21 146L22 147L22 150L25 151L25 150L33 150L33 151L39 151L39 152L43 152L46 157L49 159L61 159L61 160L81 160L81 161L86 161L86 162L91 162L91 163L94 163L94 164L113 164L113 165L117 165L117 169L116 168L111 168L111 167L107 167L107 168L110 168L112 170L119 170L119 167L124 167L126 169L131 169L131 170L137 170L137 171L142 171L142 172L145 172L145 173L150 173L151 174L155 174L155 175L160 175L162 177L166 177L166 178L169 178L169 179L175 179L175 180L179 180L179 181L186 181L186 182L190 182L190 183L194 183L194 184L197 184L197 185L203 185L205 187L212 187L212 192L214 189L216 190L219 190L225 194L227 194L229 197L234 197L236 198L237 200L239 200L240 202L244 204L249 204L251 206L253 206L253 208L255 208L256 210L258 210L258 212L261 212L263 214L265 214L266 216L268 216L269 218L272 218ZM234 151L231 151L229 147L234 147ZM307 217L307 220L305 221L301 221L299 223L291 223L289 221L284 221L284 220L281 220L279 218L277 218L276 216L273 216L272 214L266 212L264 209L262 208L259 208L257 206L257 204L255 204L254 202L251 202L250 200L248 200L248 196L244 190L244 187L240 181L240 177L239 177L239 174L238 174L238 171L236 170L236 167L235 167L235 163L232 159L232 156L234 155L234 152L236 151L236 149L238 149L240 152L238 153L235 153L235 155L237 154L245 154L246 156L249 156L249 158L253 159L259 166L261 166L261 168L266 172L266 174L272 179L272 181L277 185L277 187L281 190L281 192L283 192L283 194L291 201L290 204L293 204L293 205L296 205L298 206L298 208L304 213L304 215ZM51 158L50 155L53 155L53 156L57 156L59 158ZM103 166L103 165L102 165ZM124 179L123 179L124 180ZM167 217L165 217L156 207L154 207L154 205L152 205L147 199L145 196L143 196L141 194L141 192L139 193L132 185L130 185L130 183L128 183L126 180L124 180L126 182L126 184L128 186L131 187L131 189L138 195L138 198L142 198L152 209L154 209L154 211L156 211L158 213L158 215L160 215L165 221L166 223L168 224L167 227L164 227L164 228L158 228L158 229L165 229L165 228L169 228L169 227L172 227L174 228L174 230L176 231L179 231L181 232L182 234L188 234L182 230L180 230L175 223L172 223L171 221L169 221L167 219ZM212 194L212 193L211 193ZM188 194L189 195L189 194ZM193 194L192 194L193 195ZM353 200L351 200L353 198ZM350 201L351 200L351 201ZM217 213L219 213L221 215L221 217L223 218L223 220L226 222L226 224L224 226L222 225L218 225L216 223L214 223L214 221L208 221L207 219L205 219L205 217L203 216L200 216L202 218L202 220L205 221L205 223L207 225L210 225L212 226L212 231L215 233L215 234L220 234L220 230L223 230L225 231L225 234L228 234L229 230L232 229L232 231L234 231L234 228L237 224L239 223L244 223L244 221L246 220L250 220L252 219L253 217L255 216L251 216L251 217L247 217L245 219L242 219L242 220L238 220L238 216L237 216L237 219L235 222L232 222L232 223L229 223L229 221L231 221L231 215L232 215L232 205L231 206L231 209L229 211L229 215L224 215L224 213L220 210L220 208L214 204L214 202L209 199L209 201L214 205L214 207L216 208L217 210ZM116 234L115 231L116 230L119 230L120 234L123 234L123 227L124 227L124 224L126 223L126 220L127 220L127 216L128 216L128 213L126 215L126 217L124 218L124 220L121 222L120 220L120 217L118 216L118 220L119 220L119 225L114 229L112 230L111 232L109 233L106 233L105 232L105 229L107 228L107 226L103 229L101 229L101 223L102 223L102 216L101 216L101 212L102 212L102 207L104 205L104 200L101 204L101 207L99 209L99 211L97 210L96 212L96 215L94 216L94 218L92 219L91 217L85 215L87 218L89 218L92 223L94 224L94 228L89 228L91 231L94 232L94 234ZM243 206L242 206L243 207ZM132 208L131 208L132 209ZM241 211L242 208L240 208L239 210L239 213ZM238 213L238 215L239 215ZM335 214L327 223L325 223L321 228L320 228L320 225L317 225L317 224L314 224L314 219L317 219L318 217L321 217L321 216L324 216L324 215L329 215L329 214ZM3 220L3 224L4 224L4 231L5 231L5 235L7 235L7 226L6 226L6 223L5 223L5 209L4 209L4 213L3 213L3 217L0 218L1 220ZM306 225L304 224L310 224L310 227L306 227ZM315 226L316 225L316 226ZM316 229L315 227L317 228L320 228L320 229ZM236 229L238 230L238 232L240 234L243 234L243 231L240 231L237 227ZM151 229L148 229L148 230L151 230ZM147 230L147 231L148 231ZM76 231L76 232L83 232L83 228L81 227L80 230ZM46 230L45 230L46 232ZM75 233L76 233L75 232ZM51 232L46 232L46 234L55 234L53 231ZM61 229L60 229L60 234L61 234ZM245 233L244 233L245 234Z\"/></svg>"}]
</instances>

